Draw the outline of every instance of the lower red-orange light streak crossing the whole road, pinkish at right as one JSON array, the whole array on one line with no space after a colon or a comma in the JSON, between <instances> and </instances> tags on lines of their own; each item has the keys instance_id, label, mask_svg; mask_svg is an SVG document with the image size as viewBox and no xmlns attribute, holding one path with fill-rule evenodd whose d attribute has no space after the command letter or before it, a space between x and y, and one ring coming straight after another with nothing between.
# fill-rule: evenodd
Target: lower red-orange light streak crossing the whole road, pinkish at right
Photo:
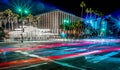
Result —
<instances>
[{"instance_id":1,"label":"lower red-orange light streak crossing the whole road, pinkish at right","mask_svg":"<svg viewBox=\"0 0 120 70\"><path fill-rule=\"evenodd\" d=\"M66 59L66 58L75 58L75 57L81 57L81 56L86 56L90 54L99 54L99 53L105 53L105 52L112 52L112 51L120 51L119 47L109 47L109 49L102 49L102 50L91 50L87 52L82 52L82 53L76 53L76 54L66 54L66 55L60 55L60 56L48 56L48 57L43 57L47 59L51 59L50 61L53 60L59 60L59 59ZM16 65L22 65L24 63L36 63L39 61L45 61L40 58L31 58L27 60L16 60L16 61L11 61L11 62L3 62L0 63L0 67L6 67L6 66L16 66ZM48 62L48 60L46 60Z\"/></svg>"}]
</instances>

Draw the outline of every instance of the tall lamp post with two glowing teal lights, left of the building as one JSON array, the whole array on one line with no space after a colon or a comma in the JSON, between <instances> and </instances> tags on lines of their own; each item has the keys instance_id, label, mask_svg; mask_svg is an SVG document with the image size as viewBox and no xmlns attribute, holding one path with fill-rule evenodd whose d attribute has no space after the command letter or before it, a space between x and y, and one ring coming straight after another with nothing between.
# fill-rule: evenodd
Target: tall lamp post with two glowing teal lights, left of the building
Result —
<instances>
[{"instance_id":1,"label":"tall lamp post with two glowing teal lights, left of the building","mask_svg":"<svg viewBox=\"0 0 120 70\"><path fill-rule=\"evenodd\" d=\"M23 27L23 22L22 22L22 17L23 17L23 14L28 14L29 11L27 9L23 9L23 8L18 8L18 12L20 13L20 20L21 20L21 23L22 23L22 33L21 33L21 43L23 43L23 32L24 32L24 27Z\"/></svg>"}]
</instances>

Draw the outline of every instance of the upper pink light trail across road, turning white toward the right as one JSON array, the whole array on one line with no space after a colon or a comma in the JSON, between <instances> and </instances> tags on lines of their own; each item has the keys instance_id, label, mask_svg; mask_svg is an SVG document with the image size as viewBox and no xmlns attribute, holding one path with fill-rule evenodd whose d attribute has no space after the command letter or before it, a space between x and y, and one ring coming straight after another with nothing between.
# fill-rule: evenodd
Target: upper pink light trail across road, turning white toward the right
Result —
<instances>
[{"instance_id":1,"label":"upper pink light trail across road, turning white toward the right","mask_svg":"<svg viewBox=\"0 0 120 70\"><path fill-rule=\"evenodd\" d=\"M107 41L106 41L107 40ZM38 50L38 49L47 49L47 48L54 48L54 47L60 47L60 46L84 46L87 44L97 44L101 42L116 42L119 43L120 40L114 40L114 39L84 39L82 41L77 41L76 43L56 43L56 44L50 44L50 45L42 45L42 46L34 46L34 47L24 47L24 48L0 48L1 52L11 52L11 51L26 51L26 50Z\"/></svg>"}]
</instances>

